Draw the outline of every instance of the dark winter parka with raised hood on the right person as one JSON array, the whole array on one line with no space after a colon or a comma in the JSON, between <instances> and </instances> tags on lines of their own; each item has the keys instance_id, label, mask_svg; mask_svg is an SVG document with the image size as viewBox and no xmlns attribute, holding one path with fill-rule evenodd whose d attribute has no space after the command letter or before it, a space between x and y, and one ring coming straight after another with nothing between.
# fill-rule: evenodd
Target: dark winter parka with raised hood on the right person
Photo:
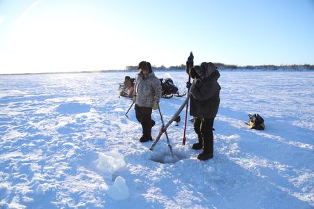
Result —
<instances>
[{"instance_id":1,"label":"dark winter parka with raised hood on the right person","mask_svg":"<svg viewBox=\"0 0 314 209\"><path fill-rule=\"evenodd\" d=\"M197 81L190 97L190 115L197 118L215 118L220 103L220 85L217 80L220 73L213 63L195 66L201 81Z\"/></svg>"}]
</instances>

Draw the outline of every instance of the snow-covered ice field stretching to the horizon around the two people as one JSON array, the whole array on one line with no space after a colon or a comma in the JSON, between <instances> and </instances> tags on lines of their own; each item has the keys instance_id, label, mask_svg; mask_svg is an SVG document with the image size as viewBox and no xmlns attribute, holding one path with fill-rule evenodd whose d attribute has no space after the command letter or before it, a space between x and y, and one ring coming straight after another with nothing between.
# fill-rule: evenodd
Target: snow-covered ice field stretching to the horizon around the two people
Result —
<instances>
[{"instance_id":1,"label":"snow-covered ice field stretching to the horizon around the two people","mask_svg":"<svg viewBox=\"0 0 314 209\"><path fill-rule=\"evenodd\" d=\"M124 115L118 86L135 73L0 76L0 208L314 207L314 72L220 71L214 158L197 160L190 122L181 145L184 109L167 129L175 163ZM156 75L186 91L186 72ZM165 123L185 98L161 100ZM266 130L244 123L255 113Z\"/></svg>"}]
</instances>

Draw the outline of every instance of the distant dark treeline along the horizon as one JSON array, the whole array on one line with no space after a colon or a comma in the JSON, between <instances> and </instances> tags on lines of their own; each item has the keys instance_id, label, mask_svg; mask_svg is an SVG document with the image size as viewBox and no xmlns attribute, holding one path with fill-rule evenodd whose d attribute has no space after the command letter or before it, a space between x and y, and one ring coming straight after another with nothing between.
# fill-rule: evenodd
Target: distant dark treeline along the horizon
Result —
<instances>
[{"instance_id":1,"label":"distant dark treeline along the horizon","mask_svg":"<svg viewBox=\"0 0 314 209\"><path fill-rule=\"evenodd\" d=\"M306 69L306 70L314 70L314 65L246 65L246 66L238 66L238 65L226 65L224 63L214 63L216 67L220 70L237 70L237 69L247 69L247 70L279 70L279 69L291 69L291 70L298 70L298 69ZM151 68L153 70L182 70L186 69L186 65L175 65L170 67L165 67L164 65L160 65L159 67L156 67L155 65L152 65ZM137 70L136 66L126 66L126 70Z\"/></svg>"}]
</instances>

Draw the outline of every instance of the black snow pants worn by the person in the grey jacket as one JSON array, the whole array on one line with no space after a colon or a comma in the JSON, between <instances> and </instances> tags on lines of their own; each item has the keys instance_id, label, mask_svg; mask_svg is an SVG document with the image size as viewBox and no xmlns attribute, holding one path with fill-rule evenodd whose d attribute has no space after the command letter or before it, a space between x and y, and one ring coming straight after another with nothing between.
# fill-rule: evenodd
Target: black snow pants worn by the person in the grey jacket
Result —
<instances>
[{"instance_id":1,"label":"black snow pants worn by the person in the grey jacket","mask_svg":"<svg viewBox=\"0 0 314 209\"><path fill-rule=\"evenodd\" d=\"M155 125L155 121L151 120L151 107L140 107L135 104L135 115L137 121L141 123L143 129L143 137L151 139L151 127Z\"/></svg>"}]
</instances>

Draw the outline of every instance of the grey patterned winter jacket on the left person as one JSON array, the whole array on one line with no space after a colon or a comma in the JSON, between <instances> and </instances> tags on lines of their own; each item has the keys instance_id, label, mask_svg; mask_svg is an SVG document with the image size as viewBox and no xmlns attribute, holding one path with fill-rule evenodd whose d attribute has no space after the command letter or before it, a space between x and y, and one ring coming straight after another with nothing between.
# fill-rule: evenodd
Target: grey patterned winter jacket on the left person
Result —
<instances>
[{"instance_id":1,"label":"grey patterned winter jacket on the left person","mask_svg":"<svg viewBox=\"0 0 314 209\"><path fill-rule=\"evenodd\" d=\"M161 86L154 72L149 72L147 75L137 74L133 95L136 96L135 104L140 107L153 107L154 101L159 103Z\"/></svg>"}]
</instances>

